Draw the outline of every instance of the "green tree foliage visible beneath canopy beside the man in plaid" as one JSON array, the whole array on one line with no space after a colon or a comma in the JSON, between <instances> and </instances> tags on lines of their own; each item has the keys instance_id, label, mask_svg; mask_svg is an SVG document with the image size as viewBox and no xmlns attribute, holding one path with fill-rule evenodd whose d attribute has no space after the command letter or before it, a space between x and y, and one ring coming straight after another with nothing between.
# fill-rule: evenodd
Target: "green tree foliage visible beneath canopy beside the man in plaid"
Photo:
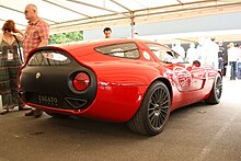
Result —
<instances>
[{"instance_id":1,"label":"green tree foliage visible beneath canopy beside the man in plaid","mask_svg":"<svg viewBox=\"0 0 241 161\"><path fill-rule=\"evenodd\" d=\"M50 35L49 44L62 44L83 41L83 32L69 32Z\"/></svg>"}]
</instances>

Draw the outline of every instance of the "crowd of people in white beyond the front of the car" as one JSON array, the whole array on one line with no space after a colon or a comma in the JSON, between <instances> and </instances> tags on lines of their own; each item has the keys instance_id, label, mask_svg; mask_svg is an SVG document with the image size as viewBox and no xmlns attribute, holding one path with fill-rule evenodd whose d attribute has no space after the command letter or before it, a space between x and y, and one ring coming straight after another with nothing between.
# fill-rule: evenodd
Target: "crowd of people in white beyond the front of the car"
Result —
<instances>
[{"instance_id":1,"label":"crowd of people in white beyond the front of the car","mask_svg":"<svg viewBox=\"0 0 241 161\"><path fill-rule=\"evenodd\" d=\"M226 77L230 77L230 80L241 79L241 46L238 44L230 43L225 47L222 42L217 44L215 38L199 37L198 44L191 43L186 51L180 42L175 43L172 49L190 62L199 60L202 66L215 67Z\"/></svg>"}]
</instances>

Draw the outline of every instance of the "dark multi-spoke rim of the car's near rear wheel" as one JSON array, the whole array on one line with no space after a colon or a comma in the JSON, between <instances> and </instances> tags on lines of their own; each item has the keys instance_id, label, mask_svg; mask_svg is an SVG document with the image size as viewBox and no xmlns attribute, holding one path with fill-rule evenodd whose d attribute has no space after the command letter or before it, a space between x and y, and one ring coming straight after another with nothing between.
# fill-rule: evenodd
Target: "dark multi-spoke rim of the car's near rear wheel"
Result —
<instances>
[{"instance_id":1,"label":"dark multi-spoke rim of the car's near rear wheel","mask_svg":"<svg viewBox=\"0 0 241 161\"><path fill-rule=\"evenodd\" d=\"M169 117L170 96L165 89L153 91L148 107L148 119L154 130L162 128Z\"/></svg>"}]
</instances>

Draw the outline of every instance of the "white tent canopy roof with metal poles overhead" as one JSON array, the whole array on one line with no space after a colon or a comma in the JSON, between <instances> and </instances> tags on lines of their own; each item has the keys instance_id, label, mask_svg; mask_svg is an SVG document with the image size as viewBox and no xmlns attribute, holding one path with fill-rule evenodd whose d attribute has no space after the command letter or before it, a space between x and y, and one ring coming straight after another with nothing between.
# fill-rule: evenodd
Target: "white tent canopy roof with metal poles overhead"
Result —
<instances>
[{"instance_id":1,"label":"white tent canopy roof with metal poles overhead","mask_svg":"<svg viewBox=\"0 0 241 161\"><path fill-rule=\"evenodd\" d=\"M0 0L0 25L25 30L25 5L34 3L50 33L190 19L241 11L240 0Z\"/></svg>"}]
</instances>

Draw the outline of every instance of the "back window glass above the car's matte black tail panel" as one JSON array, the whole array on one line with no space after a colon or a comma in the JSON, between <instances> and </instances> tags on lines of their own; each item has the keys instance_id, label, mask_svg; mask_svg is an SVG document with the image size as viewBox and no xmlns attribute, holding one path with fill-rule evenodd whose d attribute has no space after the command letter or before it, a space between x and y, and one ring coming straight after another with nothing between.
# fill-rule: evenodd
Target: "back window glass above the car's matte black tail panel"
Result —
<instances>
[{"instance_id":1,"label":"back window glass above the car's matte black tail panel","mask_svg":"<svg viewBox=\"0 0 241 161\"><path fill-rule=\"evenodd\" d=\"M35 53L28 66L64 66L70 64L71 60L62 51L58 50L41 50Z\"/></svg>"}]
</instances>

